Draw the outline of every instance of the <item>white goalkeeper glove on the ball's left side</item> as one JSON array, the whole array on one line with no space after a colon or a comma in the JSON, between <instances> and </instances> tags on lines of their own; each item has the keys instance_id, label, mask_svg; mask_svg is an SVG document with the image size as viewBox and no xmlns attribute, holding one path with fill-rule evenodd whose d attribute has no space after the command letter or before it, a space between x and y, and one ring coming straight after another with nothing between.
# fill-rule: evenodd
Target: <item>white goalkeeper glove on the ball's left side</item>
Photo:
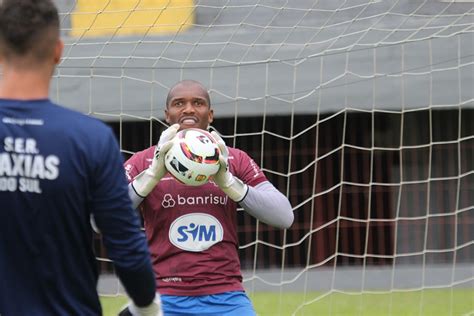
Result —
<instances>
[{"instance_id":1,"label":"white goalkeeper glove on the ball's left side","mask_svg":"<svg viewBox=\"0 0 474 316\"><path fill-rule=\"evenodd\" d=\"M161 133L151 165L133 180L133 189L139 196L146 197L166 174L165 155L173 145L172 140L178 129L179 124L173 124Z\"/></svg>"}]
</instances>

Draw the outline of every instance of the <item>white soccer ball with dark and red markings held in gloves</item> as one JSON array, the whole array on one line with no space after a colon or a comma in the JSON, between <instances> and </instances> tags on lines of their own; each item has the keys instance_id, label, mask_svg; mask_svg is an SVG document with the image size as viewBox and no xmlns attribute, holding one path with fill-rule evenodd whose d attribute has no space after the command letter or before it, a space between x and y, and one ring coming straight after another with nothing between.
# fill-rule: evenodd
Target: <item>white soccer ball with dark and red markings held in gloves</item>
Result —
<instances>
[{"instance_id":1,"label":"white soccer ball with dark and red markings held in gloves","mask_svg":"<svg viewBox=\"0 0 474 316\"><path fill-rule=\"evenodd\" d=\"M179 182L199 186L219 171L219 154L219 147L211 134L189 128L176 134L165 155L165 166Z\"/></svg>"}]
</instances>

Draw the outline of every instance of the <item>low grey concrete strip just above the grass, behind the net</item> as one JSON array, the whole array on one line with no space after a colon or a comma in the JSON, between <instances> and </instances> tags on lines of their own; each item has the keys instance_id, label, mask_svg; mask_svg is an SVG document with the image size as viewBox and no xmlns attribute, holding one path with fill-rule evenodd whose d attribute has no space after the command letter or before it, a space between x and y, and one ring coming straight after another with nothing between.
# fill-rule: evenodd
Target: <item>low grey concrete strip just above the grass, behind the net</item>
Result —
<instances>
[{"instance_id":1,"label":"low grey concrete strip just above the grass, behind the net","mask_svg":"<svg viewBox=\"0 0 474 316\"><path fill-rule=\"evenodd\" d=\"M244 287L249 292L305 291L388 291L420 290L423 288L473 288L472 266L425 266L407 265L392 267L338 267L319 268L309 271L286 269L243 271ZM113 275L102 275L99 293L124 293Z\"/></svg>"}]
</instances>

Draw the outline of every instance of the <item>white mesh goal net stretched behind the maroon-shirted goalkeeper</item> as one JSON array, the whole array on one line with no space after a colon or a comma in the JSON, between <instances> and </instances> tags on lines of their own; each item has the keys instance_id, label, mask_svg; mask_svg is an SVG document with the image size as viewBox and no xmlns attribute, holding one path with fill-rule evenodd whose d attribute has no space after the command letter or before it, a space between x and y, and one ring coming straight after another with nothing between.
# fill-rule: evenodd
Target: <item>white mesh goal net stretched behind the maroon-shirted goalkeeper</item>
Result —
<instances>
[{"instance_id":1,"label":"white mesh goal net stretched behind the maroon-shirted goalkeeper","mask_svg":"<svg viewBox=\"0 0 474 316\"><path fill-rule=\"evenodd\" d=\"M198 80L213 128L290 199L288 230L238 212L251 297L337 314L355 295L362 314L388 294L395 315L407 292L422 314L439 289L442 314L472 312L455 295L474 285L472 2L56 2L55 101L107 121L128 157L157 141L169 87Z\"/></svg>"}]
</instances>

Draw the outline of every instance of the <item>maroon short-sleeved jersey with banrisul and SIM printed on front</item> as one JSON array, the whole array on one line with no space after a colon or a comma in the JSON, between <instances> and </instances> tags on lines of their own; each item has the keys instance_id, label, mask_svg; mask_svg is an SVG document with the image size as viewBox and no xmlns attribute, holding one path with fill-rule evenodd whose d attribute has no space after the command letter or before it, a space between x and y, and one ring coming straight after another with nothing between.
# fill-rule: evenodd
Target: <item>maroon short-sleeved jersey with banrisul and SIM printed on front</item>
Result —
<instances>
[{"instance_id":1,"label":"maroon short-sleeved jersey with banrisul and SIM printed on front","mask_svg":"<svg viewBox=\"0 0 474 316\"><path fill-rule=\"evenodd\" d=\"M267 178L243 151L229 149L230 172L249 186ZM125 162L131 181L150 165L150 147ZM237 203L213 182L187 186L166 174L141 204L157 290L197 296L242 290Z\"/></svg>"}]
</instances>

